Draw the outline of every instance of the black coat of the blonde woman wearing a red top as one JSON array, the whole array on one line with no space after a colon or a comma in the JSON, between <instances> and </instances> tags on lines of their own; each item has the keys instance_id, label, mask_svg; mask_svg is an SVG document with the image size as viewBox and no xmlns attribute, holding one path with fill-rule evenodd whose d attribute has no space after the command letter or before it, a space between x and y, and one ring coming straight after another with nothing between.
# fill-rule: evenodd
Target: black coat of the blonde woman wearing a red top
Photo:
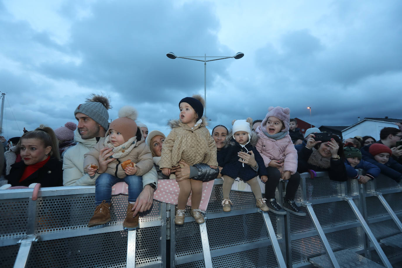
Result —
<instances>
[{"instance_id":1,"label":"black coat of the blonde woman wearing a red top","mask_svg":"<svg viewBox=\"0 0 402 268\"><path fill-rule=\"evenodd\" d=\"M6 176L8 183L12 186L29 186L35 182L40 183L42 187L63 186L63 162L57 158L50 158L43 167L19 182L26 167L24 161L12 164L10 174Z\"/></svg>"}]
</instances>

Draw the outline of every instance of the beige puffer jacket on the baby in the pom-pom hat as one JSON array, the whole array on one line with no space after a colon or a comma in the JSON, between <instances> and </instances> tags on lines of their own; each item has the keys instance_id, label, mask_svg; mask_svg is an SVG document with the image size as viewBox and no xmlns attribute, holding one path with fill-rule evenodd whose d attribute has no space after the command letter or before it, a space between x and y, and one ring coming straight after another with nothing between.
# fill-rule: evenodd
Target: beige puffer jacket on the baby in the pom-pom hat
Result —
<instances>
[{"instance_id":1,"label":"beige puffer jacket on the baby in the pom-pom hat","mask_svg":"<svg viewBox=\"0 0 402 268\"><path fill-rule=\"evenodd\" d=\"M105 138L99 139L99 141L96 144L96 146L94 147L94 149L84 155L84 171L85 172L86 172L86 167L89 166L90 164L95 164L96 166L99 166L98 157L99 157L100 150L105 147L104 141L105 141ZM135 175L137 175L137 176L144 175L145 173L150 171L150 169L154 166L154 160L152 159L152 153L151 153L148 145L145 143L144 139L137 141L136 146L131 150L131 152L128 155L110 162L107 165L106 173L111 174L113 176L116 176L116 174L117 174L117 178L124 178L127 175L125 174L124 170L121 168L121 163L126 160L131 160L132 162L134 162L136 164L138 171L137 171L137 173L135 173ZM117 170L117 173L116 173L116 170Z\"/></svg>"}]
</instances>

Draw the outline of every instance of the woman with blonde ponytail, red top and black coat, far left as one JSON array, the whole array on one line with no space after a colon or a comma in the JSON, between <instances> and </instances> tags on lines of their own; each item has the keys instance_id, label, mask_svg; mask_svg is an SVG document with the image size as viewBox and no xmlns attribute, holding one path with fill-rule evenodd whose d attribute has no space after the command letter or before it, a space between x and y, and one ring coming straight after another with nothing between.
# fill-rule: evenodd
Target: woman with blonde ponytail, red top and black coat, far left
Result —
<instances>
[{"instance_id":1,"label":"woman with blonde ponytail, red top and black coat, far left","mask_svg":"<svg viewBox=\"0 0 402 268\"><path fill-rule=\"evenodd\" d=\"M12 164L6 176L11 186L29 186L35 182L42 187L63 185L63 164L53 129L41 125L24 133L18 147L22 161Z\"/></svg>"}]
</instances>

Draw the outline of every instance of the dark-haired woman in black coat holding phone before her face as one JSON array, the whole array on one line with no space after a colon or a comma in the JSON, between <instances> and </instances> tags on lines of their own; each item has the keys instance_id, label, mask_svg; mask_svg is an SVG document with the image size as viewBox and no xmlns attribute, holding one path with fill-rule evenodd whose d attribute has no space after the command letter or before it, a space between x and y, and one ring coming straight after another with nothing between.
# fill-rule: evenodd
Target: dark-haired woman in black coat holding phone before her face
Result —
<instances>
[{"instance_id":1,"label":"dark-haired woman in black coat holding phone before her face","mask_svg":"<svg viewBox=\"0 0 402 268\"><path fill-rule=\"evenodd\" d=\"M315 137L314 134L313 136ZM306 146L297 152L297 171L299 173L308 170L327 171L331 180L346 181L342 141L334 134L328 142L316 141L314 137L310 137Z\"/></svg>"}]
</instances>

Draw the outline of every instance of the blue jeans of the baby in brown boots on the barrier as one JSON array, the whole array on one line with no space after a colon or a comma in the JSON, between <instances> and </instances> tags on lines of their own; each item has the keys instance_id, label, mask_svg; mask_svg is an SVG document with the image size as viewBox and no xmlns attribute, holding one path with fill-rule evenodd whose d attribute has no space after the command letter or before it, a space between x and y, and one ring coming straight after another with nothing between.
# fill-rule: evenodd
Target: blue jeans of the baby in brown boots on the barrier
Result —
<instances>
[{"instance_id":1,"label":"blue jeans of the baby in brown boots on the barrier","mask_svg":"<svg viewBox=\"0 0 402 268\"><path fill-rule=\"evenodd\" d=\"M142 191L142 176L131 175L120 179L111 174L102 173L95 181L95 205L100 205L103 200L111 203L112 186L122 180L128 184L128 201L135 202Z\"/></svg>"}]
</instances>

